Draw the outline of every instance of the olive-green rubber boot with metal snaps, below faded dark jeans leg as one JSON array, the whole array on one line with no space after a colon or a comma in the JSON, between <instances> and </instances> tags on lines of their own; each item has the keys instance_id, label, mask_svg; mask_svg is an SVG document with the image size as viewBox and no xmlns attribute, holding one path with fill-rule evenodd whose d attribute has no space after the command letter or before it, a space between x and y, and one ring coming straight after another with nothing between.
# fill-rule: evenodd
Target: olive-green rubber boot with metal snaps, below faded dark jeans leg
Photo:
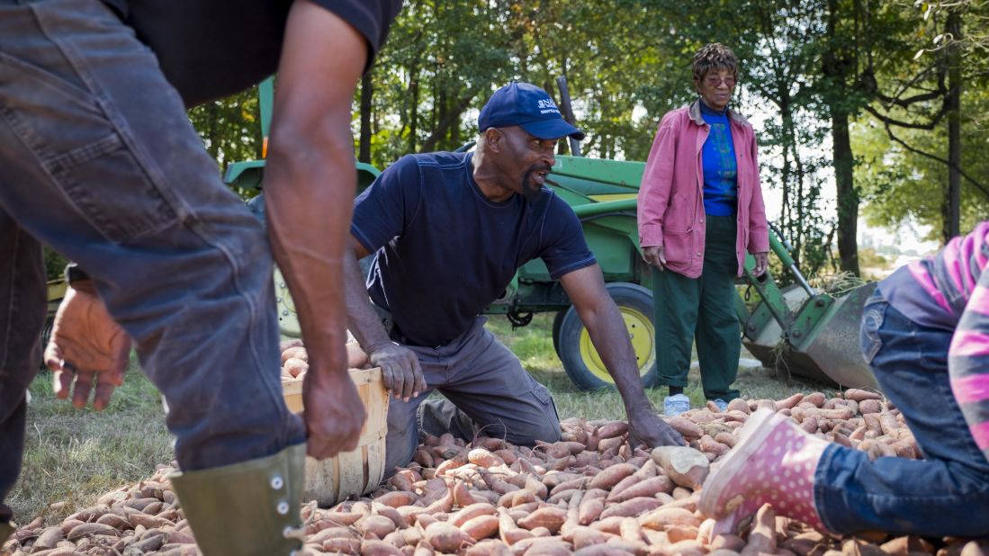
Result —
<instances>
[{"instance_id":1,"label":"olive-green rubber boot with metal snaps, below faded dark jeans leg","mask_svg":"<svg viewBox=\"0 0 989 556\"><path fill-rule=\"evenodd\" d=\"M301 554L306 443L277 454L171 475L205 556Z\"/></svg>"}]
</instances>

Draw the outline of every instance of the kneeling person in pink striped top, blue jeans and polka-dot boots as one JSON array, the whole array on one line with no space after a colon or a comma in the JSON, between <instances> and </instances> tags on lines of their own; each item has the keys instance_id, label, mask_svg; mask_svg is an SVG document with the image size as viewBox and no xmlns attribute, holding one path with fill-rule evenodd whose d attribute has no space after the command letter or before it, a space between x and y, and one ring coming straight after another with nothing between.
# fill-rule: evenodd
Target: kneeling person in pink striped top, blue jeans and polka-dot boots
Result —
<instances>
[{"instance_id":1,"label":"kneeling person in pink striped top, blue jeans and polka-dot boots","mask_svg":"<svg viewBox=\"0 0 989 556\"><path fill-rule=\"evenodd\" d=\"M877 529L989 535L989 222L879 282L862 354L923 460L828 443L793 420L749 418L704 484L700 509L729 530L764 503L836 534Z\"/></svg>"}]
</instances>

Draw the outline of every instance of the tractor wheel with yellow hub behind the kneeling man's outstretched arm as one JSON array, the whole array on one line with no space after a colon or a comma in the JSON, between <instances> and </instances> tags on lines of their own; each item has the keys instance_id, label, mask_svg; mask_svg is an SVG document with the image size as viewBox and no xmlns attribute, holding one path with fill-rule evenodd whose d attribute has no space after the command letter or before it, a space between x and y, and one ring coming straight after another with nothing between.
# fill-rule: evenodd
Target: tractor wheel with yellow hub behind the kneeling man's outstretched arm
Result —
<instances>
[{"instance_id":1,"label":"tractor wheel with yellow hub behind the kneeling man's outstretched arm","mask_svg":"<svg viewBox=\"0 0 989 556\"><path fill-rule=\"evenodd\" d=\"M656 326L653 324L653 293L642 286L627 282L612 282L605 286L621 312L632 347L639 363L639 376L645 388L657 386ZM556 343L567 376L581 390L597 390L614 386L614 379L601 363L590 334L581 322L577 309L571 307L560 320ZM554 334L556 337L557 334Z\"/></svg>"}]
</instances>

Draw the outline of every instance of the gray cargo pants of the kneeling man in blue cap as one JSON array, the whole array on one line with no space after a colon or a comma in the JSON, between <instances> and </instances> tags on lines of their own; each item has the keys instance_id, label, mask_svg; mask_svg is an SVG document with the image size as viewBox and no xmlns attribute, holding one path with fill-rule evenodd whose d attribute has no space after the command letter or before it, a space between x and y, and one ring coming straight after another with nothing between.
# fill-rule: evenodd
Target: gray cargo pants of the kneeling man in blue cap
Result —
<instances>
[{"instance_id":1,"label":"gray cargo pants of the kneeling man in blue cap","mask_svg":"<svg viewBox=\"0 0 989 556\"><path fill-rule=\"evenodd\" d=\"M523 446L560 439L560 417L549 391L485 328L487 322L478 317L441 347L405 346L418 356L427 389L408 402L389 402L387 474L411 461L420 430L466 440L477 433ZM433 390L446 400L423 404Z\"/></svg>"}]
</instances>

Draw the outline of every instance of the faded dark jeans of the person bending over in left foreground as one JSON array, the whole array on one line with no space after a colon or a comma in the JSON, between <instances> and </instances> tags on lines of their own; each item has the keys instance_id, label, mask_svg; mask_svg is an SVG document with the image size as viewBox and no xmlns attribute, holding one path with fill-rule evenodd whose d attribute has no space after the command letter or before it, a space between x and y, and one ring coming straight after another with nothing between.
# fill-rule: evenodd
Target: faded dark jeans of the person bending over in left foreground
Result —
<instances>
[{"instance_id":1,"label":"faded dark jeans of the person bending over in left foreground","mask_svg":"<svg viewBox=\"0 0 989 556\"><path fill-rule=\"evenodd\" d=\"M40 242L93 277L135 339L184 470L305 439L281 396L266 236L102 2L0 0L0 168L0 501L39 364Z\"/></svg>"}]
</instances>

